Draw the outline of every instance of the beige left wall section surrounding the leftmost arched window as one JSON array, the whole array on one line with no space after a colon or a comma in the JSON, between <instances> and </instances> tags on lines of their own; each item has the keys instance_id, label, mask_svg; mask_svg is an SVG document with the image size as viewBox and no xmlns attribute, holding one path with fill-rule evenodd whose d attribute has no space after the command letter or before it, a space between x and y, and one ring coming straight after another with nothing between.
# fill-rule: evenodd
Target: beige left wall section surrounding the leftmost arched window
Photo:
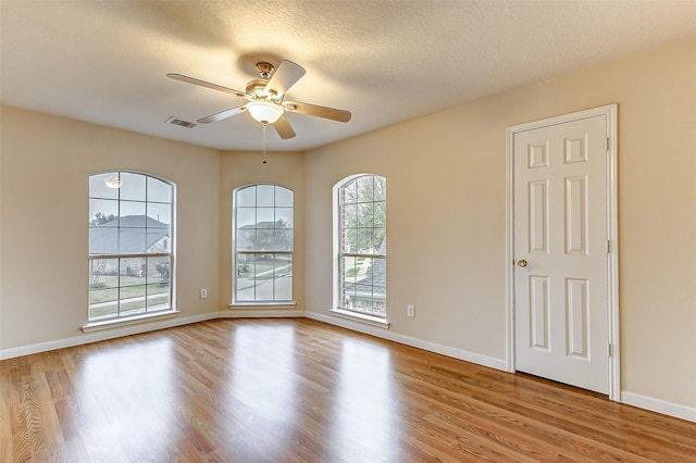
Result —
<instances>
[{"instance_id":1,"label":"beige left wall section surrounding the leftmost arched window","mask_svg":"<svg viewBox=\"0 0 696 463\"><path fill-rule=\"evenodd\" d=\"M177 309L181 316L217 310L217 151L7 107L1 124L0 349L83 336L95 172L132 170L176 184ZM199 299L199 288L213 297Z\"/></svg>"}]
</instances>

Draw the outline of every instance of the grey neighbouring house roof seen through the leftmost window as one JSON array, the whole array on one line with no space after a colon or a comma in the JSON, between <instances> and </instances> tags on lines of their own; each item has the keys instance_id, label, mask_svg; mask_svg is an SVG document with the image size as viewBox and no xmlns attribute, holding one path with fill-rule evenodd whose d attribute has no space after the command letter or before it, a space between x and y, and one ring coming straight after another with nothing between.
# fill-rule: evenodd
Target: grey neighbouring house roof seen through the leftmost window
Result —
<instances>
[{"instance_id":1,"label":"grey neighbouring house roof seen through the leftmost window","mask_svg":"<svg viewBox=\"0 0 696 463\"><path fill-rule=\"evenodd\" d=\"M169 236L167 224L147 215L126 215L90 226L89 252L92 254L147 252Z\"/></svg>"}]
</instances>

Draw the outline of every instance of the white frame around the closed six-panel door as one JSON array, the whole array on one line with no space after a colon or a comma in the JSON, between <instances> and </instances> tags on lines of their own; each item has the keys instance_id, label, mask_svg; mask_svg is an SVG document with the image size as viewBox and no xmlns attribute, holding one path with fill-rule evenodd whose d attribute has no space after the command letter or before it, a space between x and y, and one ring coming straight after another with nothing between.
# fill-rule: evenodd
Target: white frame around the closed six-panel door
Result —
<instances>
[{"instance_id":1,"label":"white frame around the closed six-panel door","mask_svg":"<svg viewBox=\"0 0 696 463\"><path fill-rule=\"evenodd\" d=\"M618 184L617 184L617 149L618 149L618 105L594 108L571 114L549 117L542 121L508 127L507 159L506 159L506 331L507 331L507 359L506 370L515 372L514 359L514 135L549 125L563 124L576 120L605 115L607 117L607 239L608 239L608 284L607 309L609 329L609 399L621 400L621 361L619 341L619 214L618 214Z\"/></svg>"}]
</instances>

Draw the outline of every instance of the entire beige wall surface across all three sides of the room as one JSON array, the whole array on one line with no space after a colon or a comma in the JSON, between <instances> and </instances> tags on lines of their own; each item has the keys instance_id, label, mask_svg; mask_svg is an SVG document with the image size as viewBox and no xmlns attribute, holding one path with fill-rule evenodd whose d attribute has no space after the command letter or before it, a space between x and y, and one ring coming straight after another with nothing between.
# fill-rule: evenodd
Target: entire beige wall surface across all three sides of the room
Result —
<instances>
[{"instance_id":1,"label":"entire beige wall surface across all three sides of the room","mask_svg":"<svg viewBox=\"0 0 696 463\"><path fill-rule=\"evenodd\" d=\"M291 188L295 299L326 317L332 187L374 173L388 188L389 333L502 360L506 127L608 103L619 103L622 389L696 408L696 37L266 165L258 152L2 108L0 350L82 336L89 173L176 183L181 316L229 302L234 188Z\"/></svg>"}]
</instances>

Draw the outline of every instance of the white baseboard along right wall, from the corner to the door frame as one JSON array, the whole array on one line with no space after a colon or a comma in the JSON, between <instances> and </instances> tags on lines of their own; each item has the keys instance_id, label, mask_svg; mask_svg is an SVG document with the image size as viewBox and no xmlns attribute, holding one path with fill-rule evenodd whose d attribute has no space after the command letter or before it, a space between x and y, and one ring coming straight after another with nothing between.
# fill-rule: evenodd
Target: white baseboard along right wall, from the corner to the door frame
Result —
<instances>
[{"instance_id":1,"label":"white baseboard along right wall, from the corner to the door frame","mask_svg":"<svg viewBox=\"0 0 696 463\"><path fill-rule=\"evenodd\" d=\"M369 324L362 324L360 322L353 322L347 318L324 315L315 312L306 312L304 316L308 318L316 320L320 322L328 323L330 325L336 325L344 328L352 329L355 331L364 333L366 335L375 336L377 338L388 339L390 341L399 342L406 346L423 349L428 352L439 353L442 355L451 356L453 359L463 360L465 362L475 363L482 366L488 366L490 368L506 371L506 362L500 359L495 359L480 353L469 352L461 349L455 349L451 347L438 345L435 342L424 341L422 339L413 338L410 336L399 335L393 331L388 331L384 328L371 326Z\"/></svg>"}]
</instances>

